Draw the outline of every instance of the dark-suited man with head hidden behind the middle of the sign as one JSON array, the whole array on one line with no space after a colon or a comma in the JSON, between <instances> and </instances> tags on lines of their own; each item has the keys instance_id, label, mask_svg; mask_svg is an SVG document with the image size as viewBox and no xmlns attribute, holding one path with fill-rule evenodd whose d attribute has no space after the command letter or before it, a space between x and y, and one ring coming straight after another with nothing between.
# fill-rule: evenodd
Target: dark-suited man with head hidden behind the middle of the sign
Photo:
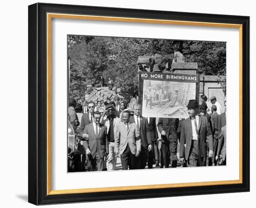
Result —
<instances>
[{"instance_id":1,"label":"dark-suited man with head hidden behind the middle of the sign","mask_svg":"<svg viewBox=\"0 0 256 208\"><path fill-rule=\"evenodd\" d=\"M177 167L177 144L178 144L178 118L159 118L157 127L161 133L161 168L169 167L171 157L171 167Z\"/></svg>"}]
</instances>

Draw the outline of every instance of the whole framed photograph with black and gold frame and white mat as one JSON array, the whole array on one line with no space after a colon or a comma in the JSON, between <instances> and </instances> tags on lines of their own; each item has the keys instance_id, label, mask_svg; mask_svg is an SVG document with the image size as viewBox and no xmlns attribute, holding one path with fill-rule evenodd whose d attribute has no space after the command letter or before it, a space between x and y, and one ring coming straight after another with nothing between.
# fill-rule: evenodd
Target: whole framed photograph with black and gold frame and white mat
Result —
<instances>
[{"instance_id":1,"label":"whole framed photograph with black and gold frame and white mat","mask_svg":"<svg viewBox=\"0 0 256 208\"><path fill-rule=\"evenodd\" d=\"M29 202L249 191L249 17L28 10Z\"/></svg>"}]
</instances>

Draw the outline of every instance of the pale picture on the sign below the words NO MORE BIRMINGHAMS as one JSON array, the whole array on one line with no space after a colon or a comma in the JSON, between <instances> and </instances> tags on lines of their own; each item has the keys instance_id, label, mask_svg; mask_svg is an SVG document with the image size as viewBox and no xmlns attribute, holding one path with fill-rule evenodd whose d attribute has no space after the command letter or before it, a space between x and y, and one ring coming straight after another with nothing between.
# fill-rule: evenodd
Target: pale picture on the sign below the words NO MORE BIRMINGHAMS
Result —
<instances>
[{"instance_id":1,"label":"pale picture on the sign below the words NO MORE BIRMINGHAMS","mask_svg":"<svg viewBox=\"0 0 256 208\"><path fill-rule=\"evenodd\" d=\"M192 99L195 83L145 80L142 116L187 118L187 105Z\"/></svg>"}]
</instances>

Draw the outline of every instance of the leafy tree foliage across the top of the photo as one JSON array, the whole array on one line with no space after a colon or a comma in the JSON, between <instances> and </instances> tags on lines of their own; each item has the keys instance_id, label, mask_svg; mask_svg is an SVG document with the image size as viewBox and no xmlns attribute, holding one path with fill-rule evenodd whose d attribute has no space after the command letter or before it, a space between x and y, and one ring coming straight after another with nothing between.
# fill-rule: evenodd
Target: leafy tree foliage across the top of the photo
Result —
<instances>
[{"instance_id":1,"label":"leafy tree foliage across the top of the photo","mask_svg":"<svg viewBox=\"0 0 256 208\"><path fill-rule=\"evenodd\" d=\"M70 96L81 98L86 86L112 78L125 97L138 89L138 56L157 52L166 58L178 45L189 62L198 63L198 74L226 75L224 42L68 36Z\"/></svg>"}]
</instances>

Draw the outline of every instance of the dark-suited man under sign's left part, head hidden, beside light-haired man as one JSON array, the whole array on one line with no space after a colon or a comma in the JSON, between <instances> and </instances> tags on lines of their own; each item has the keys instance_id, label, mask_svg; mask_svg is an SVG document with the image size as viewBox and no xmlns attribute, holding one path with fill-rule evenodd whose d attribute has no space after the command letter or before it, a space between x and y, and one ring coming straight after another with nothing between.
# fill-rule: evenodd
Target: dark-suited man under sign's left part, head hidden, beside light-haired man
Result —
<instances>
[{"instance_id":1,"label":"dark-suited man under sign's left part, head hidden, beside light-haired man","mask_svg":"<svg viewBox=\"0 0 256 208\"><path fill-rule=\"evenodd\" d=\"M155 117L147 117L147 120L151 137L151 143L153 146L152 151L148 152L148 169L152 169L154 160L156 167L158 167L160 163L158 150L158 133L156 129Z\"/></svg>"}]
</instances>

